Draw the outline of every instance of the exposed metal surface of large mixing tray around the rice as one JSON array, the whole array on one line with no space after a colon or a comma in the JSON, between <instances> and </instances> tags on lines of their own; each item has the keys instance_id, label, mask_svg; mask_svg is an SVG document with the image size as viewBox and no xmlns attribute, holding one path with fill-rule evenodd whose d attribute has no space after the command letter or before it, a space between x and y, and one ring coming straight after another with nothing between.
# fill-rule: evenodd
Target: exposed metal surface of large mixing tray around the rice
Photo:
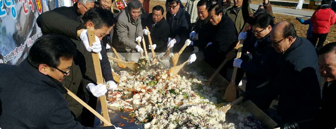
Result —
<instances>
[{"instance_id":1,"label":"exposed metal surface of large mixing tray around the rice","mask_svg":"<svg viewBox=\"0 0 336 129\"><path fill-rule=\"evenodd\" d=\"M118 53L120 58L122 58L123 60L126 61L135 61L137 62L140 54L139 53ZM193 53L182 53L179 57L179 61L177 63L177 65L183 63L184 61L186 61L188 59L188 57L193 54ZM109 56L115 57L114 53L110 53L108 52ZM152 53L148 53L150 59L152 57ZM162 55L164 55L164 53L156 53L157 56L161 57ZM171 68L172 65L172 61L170 59L169 56L167 56L162 62L160 62L160 64L163 64L165 66L167 66L167 68ZM112 69L114 69L114 71L117 73L119 71L130 71L128 68L123 69L123 68L119 68L117 66L117 63L113 63L111 64ZM205 77L205 78L209 78L211 76L212 73L215 72L215 70L213 68L211 68L205 61L201 60L196 60L195 62L193 62L192 64L186 66L185 68L182 69L183 71L186 72L194 72L196 71L199 75ZM217 74L215 76L215 78L213 79L214 82L217 83L218 87L220 89L225 89L229 82L227 82L221 75ZM131 97L131 96L129 96ZM246 102L241 102L240 104L242 104L243 106L247 107L250 112L252 113L252 115L263 122L264 124L264 128L266 129L273 129L274 126L276 126L277 124L270 119L265 113L263 113L255 104L253 104L251 101L246 101ZM97 107L96 107L96 111L101 112L101 107L100 107L100 101L99 98L97 100ZM125 120L123 120L120 116L128 116L128 113L119 113L119 112L115 112L115 113L109 113L109 116L111 118L111 123L114 125L118 125L120 122L123 122L125 125L122 126L122 128L124 129L137 129L137 128L143 128L143 126L141 124L135 124L134 122L132 123L126 123ZM235 125L238 125L239 120L235 120L233 117L227 117L226 119L228 122L234 123ZM117 124L118 123L118 124ZM99 127L99 119L96 117L95 119L95 127Z\"/></svg>"}]
</instances>

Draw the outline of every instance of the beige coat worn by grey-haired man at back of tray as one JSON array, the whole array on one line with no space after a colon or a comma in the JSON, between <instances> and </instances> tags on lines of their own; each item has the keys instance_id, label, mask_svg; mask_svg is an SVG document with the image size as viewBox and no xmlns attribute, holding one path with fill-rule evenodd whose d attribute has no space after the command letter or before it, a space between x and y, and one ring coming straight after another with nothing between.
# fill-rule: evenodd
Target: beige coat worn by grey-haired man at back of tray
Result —
<instances>
[{"instance_id":1,"label":"beige coat worn by grey-haired man at back of tray","mask_svg":"<svg viewBox=\"0 0 336 129\"><path fill-rule=\"evenodd\" d=\"M113 33L112 44L118 52L135 50L135 39L143 36L141 19L131 20L127 7L118 14L118 21Z\"/></svg>"}]
</instances>

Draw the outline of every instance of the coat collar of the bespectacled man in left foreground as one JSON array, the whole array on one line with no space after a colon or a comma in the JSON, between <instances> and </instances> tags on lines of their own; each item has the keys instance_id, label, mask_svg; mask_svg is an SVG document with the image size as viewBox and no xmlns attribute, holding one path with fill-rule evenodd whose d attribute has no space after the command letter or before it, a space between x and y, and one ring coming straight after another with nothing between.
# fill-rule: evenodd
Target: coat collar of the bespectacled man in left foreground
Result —
<instances>
[{"instance_id":1,"label":"coat collar of the bespectacled man in left foreground","mask_svg":"<svg viewBox=\"0 0 336 129\"><path fill-rule=\"evenodd\" d=\"M22 76L24 76L27 80L31 80L32 82L40 85L46 85L55 88L62 94L67 93L67 90L63 86L58 85L48 76L40 73L36 68L34 68L28 63L27 59L25 59L18 65L18 69L20 69L20 71L23 73Z\"/></svg>"}]
</instances>

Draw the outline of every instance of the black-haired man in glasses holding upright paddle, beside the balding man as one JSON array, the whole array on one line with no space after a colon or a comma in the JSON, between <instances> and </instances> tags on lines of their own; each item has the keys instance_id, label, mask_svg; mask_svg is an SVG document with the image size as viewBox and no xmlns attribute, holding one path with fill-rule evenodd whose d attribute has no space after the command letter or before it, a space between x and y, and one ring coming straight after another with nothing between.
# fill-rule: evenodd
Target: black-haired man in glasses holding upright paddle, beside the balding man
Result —
<instances>
[{"instance_id":1,"label":"black-haired man in glasses holding upright paddle, beside the balding man","mask_svg":"<svg viewBox=\"0 0 336 129\"><path fill-rule=\"evenodd\" d=\"M269 38L269 32L274 26L274 18L267 13L259 14L254 17L251 26L251 30L239 34L239 40L246 39L243 45L245 54L242 54L241 59L236 58L233 62L234 67L241 68L246 73L246 91L254 89L268 80L268 77L275 71L279 57L279 53L272 48ZM227 57L232 56L236 57L236 54ZM271 97L261 96L251 101L267 113L272 100Z\"/></svg>"}]
</instances>

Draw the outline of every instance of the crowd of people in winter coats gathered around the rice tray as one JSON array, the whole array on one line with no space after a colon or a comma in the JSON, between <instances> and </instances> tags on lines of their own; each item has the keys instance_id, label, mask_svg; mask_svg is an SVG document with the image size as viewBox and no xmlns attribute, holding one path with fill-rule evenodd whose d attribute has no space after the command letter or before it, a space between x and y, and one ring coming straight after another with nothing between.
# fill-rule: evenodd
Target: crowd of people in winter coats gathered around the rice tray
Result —
<instances>
[{"instance_id":1,"label":"crowd of people in winter coats gathered around the rice tray","mask_svg":"<svg viewBox=\"0 0 336 129\"><path fill-rule=\"evenodd\" d=\"M180 0L166 0L166 12L156 5L149 14L143 0L131 0L116 17L112 3L78 0L74 6L38 16L43 36L32 45L27 58L18 66L0 64L0 128L93 127L94 116L64 87L95 108L97 97L108 88L117 88L107 49L143 52L146 47L155 52L178 52L185 44L184 53L198 48L188 64L204 60L217 69L229 58L220 71L226 80L231 80L234 67L240 68L235 82L240 85L246 75L243 101L251 100L267 112L279 96L281 129L336 128L332 102L336 42L323 46L335 24L330 0L323 0L310 19L297 18L309 24L306 38L299 37L290 22L275 23L268 0L257 10L250 8L248 0L234 0L233 5L230 0L188 0L184 6ZM92 46L88 29L95 34ZM144 46L137 43L142 38ZM243 41L243 54L236 58L237 52L232 50L239 40ZM91 52L99 54L102 76L109 87L96 83ZM322 95L321 77L325 80ZM267 81L268 85L257 88Z\"/></svg>"}]
</instances>

